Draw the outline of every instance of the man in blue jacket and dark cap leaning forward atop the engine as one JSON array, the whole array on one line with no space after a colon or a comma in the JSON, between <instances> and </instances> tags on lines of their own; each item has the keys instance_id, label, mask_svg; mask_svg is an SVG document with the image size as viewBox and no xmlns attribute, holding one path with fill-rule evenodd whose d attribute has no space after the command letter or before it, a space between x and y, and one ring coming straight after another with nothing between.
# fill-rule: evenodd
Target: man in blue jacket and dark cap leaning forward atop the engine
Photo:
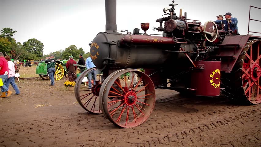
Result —
<instances>
[{"instance_id":1,"label":"man in blue jacket and dark cap leaning forward atop the engine","mask_svg":"<svg viewBox=\"0 0 261 147\"><path fill-rule=\"evenodd\" d=\"M227 31L227 30L232 30L235 34L238 34L238 29L237 29L237 19L236 19L236 17L231 17L232 16L232 14L231 13L226 13L225 15L225 19L226 20L223 20L223 21L221 21L221 20L217 20L217 21L214 21L216 24L225 24L225 27L224 27L224 29L225 29L225 31ZM237 32L235 32L235 30L237 31Z\"/></svg>"}]
</instances>

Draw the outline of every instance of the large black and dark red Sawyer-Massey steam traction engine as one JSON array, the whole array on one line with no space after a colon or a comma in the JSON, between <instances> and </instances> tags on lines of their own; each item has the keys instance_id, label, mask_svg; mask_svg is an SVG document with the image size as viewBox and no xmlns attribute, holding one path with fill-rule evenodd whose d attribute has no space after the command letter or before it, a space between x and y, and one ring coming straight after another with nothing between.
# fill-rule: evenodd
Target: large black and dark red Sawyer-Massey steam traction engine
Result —
<instances>
[{"instance_id":1,"label":"large black and dark red Sawyer-Massey steam traction engine","mask_svg":"<svg viewBox=\"0 0 261 147\"><path fill-rule=\"evenodd\" d=\"M106 31L91 43L91 58L103 77L91 89L82 84L86 70L77 80L75 96L87 111L101 114L115 125L130 128L142 124L155 105L155 89L173 89L195 96L219 96L243 105L261 102L261 37L219 30L213 21L204 25L175 13L177 4L164 8L157 19L161 36L119 33L116 27L116 0L105 0ZM164 26L162 25L164 23ZM135 70L144 68L145 73ZM119 77L129 72L130 80Z\"/></svg>"}]
</instances>

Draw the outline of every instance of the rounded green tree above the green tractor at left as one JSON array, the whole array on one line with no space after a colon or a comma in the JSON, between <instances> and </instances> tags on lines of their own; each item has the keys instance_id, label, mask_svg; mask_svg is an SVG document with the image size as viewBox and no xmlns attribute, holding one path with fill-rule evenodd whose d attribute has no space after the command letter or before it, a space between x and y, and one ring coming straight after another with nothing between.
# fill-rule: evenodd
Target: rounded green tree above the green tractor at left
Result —
<instances>
[{"instance_id":1,"label":"rounded green tree above the green tractor at left","mask_svg":"<svg viewBox=\"0 0 261 147\"><path fill-rule=\"evenodd\" d=\"M42 58L44 52L44 44L36 39L29 39L24 42L25 51L36 55L36 57Z\"/></svg>"}]
</instances>

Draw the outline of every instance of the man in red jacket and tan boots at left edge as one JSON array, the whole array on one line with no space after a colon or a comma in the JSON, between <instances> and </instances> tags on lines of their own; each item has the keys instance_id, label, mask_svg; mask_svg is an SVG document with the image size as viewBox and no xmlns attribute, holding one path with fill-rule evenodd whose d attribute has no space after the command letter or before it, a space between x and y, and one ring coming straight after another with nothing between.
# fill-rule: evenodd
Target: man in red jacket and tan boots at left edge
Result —
<instances>
[{"instance_id":1,"label":"man in red jacket and tan boots at left edge","mask_svg":"<svg viewBox=\"0 0 261 147\"><path fill-rule=\"evenodd\" d=\"M2 95L0 97L8 97L12 94L12 92L6 87L6 81L8 79L8 64L2 52L0 52L0 77L2 78L2 82L4 84L0 87L2 91Z\"/></svg>"}]
</instances>

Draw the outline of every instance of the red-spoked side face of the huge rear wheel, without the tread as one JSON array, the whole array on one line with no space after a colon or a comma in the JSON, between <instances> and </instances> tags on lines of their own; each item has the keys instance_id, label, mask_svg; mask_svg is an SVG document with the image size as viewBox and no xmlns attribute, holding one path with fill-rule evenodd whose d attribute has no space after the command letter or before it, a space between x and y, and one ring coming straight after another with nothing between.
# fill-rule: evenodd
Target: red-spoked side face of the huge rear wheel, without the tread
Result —
<instances>
[{"instance_id":1,"label":"red-spoked side face of the huge rear wheel, without the tread","mask_svg":"<svg viewBox=\"0 0 261 147\"><path fill-rule=\"evenodd\" d=\"M252 104L261 103L261 41L253 43L246 52L242 66L244 94ZM259 61L260 60L260 61Z\"/></svg>"}]
</instances>

